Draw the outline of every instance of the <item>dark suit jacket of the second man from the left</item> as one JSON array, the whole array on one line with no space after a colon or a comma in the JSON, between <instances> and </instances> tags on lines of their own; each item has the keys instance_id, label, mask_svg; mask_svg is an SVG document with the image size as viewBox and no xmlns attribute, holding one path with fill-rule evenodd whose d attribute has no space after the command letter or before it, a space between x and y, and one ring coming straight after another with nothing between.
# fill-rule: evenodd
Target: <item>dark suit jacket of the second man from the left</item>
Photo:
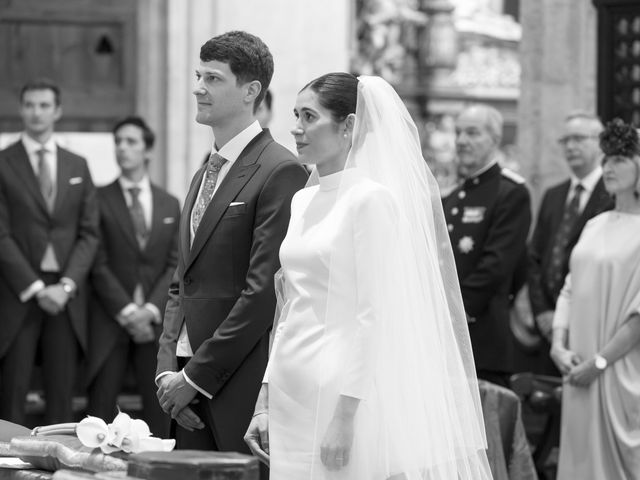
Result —
<instances>
[{"instance_id":1,"label":"dark suit jacket of the second man from the left","mask_svg":"<svg viewBox=\"0 0 640 480\"><path fill-rule=\"evenodd\" d=\"M169 282L178 263L180 205L153 184L151 196L151 230L141 250L120 182L98 189L101 244L90 277L94 301L90 309L89 381L123 334L115 317L133 302L136 285L142 285L147 302L164 312ZM160 331L158 327L158 336Z\"/></svg>"}]
</instances>

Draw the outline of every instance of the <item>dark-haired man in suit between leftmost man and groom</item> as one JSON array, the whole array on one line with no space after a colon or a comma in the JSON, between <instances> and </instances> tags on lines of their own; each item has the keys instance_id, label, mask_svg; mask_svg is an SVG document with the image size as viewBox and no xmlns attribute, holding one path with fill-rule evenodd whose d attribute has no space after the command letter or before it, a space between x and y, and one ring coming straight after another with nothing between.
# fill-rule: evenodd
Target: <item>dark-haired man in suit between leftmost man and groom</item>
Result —
<instances>
[{"instance_id":1,"label":"dark-haired man in suit between leftmost man and groom","mask_svg":"<svg viewBox=\"0 0 640 480\"><path fill-rule=\"evenodd\" d=\"M169 281L178 262L178 200L149 180L155 136L139 117L113 128L122 171L98 189L101 246L91 271L89 410L110 421L126 373L133 370L142 419L157 437L169 416L156 398L158 338Z\"/></svg>"}]
</instances>

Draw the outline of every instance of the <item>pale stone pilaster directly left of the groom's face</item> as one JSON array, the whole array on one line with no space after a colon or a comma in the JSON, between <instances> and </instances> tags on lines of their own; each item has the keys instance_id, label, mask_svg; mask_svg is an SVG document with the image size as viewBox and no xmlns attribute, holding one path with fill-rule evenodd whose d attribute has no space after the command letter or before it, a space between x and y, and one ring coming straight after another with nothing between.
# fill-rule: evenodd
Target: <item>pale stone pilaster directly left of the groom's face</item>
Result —
<instances>
[{"instance_id":1,"label":"pale stone pilaster directly left of the groom's face","mask_svg":"<svg viewBox=\"0 0 640 480\"><path fill-rule=\"evenodd\" d=\"M137 112L156 132L151 178L181 201L211 148L211 129L195 122L200 46L215 30L217 1L139 0Z\"/></svg>"}]
</instances>

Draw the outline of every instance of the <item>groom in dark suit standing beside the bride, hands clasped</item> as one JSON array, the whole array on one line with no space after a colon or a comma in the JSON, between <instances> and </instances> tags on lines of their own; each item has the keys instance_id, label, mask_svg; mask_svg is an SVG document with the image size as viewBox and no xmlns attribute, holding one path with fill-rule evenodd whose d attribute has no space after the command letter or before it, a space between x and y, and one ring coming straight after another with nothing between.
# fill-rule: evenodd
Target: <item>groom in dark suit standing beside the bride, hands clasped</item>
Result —
<instances>
[{"instance_id":1,"label":"groom in dark suit standing beside the bride, hands clasped","mask_svg":"<svg viewBox=\"0 0 640 480\"><path fill-rule=\"evenodd\" d=\"M267 363L278 250L307 177L255 119L272 74L269 49L246 32L200 50L196 121L215 143L185 200L156 377L178 448L249 453L243 436Z\"/></svg>"}]
</instances>

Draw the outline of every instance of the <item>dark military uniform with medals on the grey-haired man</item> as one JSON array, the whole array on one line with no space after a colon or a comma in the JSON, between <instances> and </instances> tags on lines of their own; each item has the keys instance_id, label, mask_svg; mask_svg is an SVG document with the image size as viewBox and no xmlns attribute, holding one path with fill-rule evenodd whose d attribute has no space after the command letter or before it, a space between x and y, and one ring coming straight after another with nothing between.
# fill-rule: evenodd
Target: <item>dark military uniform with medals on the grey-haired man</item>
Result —
<instances>
[{"instance_id":1,"label":"dark military uniform with medals on the grey-haired man","mask_svg":"<svg viewBox=\"0 0 640 480\"><path fill-rule=\"evenodd\" d=\"M476 368L510 372L509 297L531 223L529 191L496 164L446 197L444 213Z\"/></svg>"}]
</instances>

